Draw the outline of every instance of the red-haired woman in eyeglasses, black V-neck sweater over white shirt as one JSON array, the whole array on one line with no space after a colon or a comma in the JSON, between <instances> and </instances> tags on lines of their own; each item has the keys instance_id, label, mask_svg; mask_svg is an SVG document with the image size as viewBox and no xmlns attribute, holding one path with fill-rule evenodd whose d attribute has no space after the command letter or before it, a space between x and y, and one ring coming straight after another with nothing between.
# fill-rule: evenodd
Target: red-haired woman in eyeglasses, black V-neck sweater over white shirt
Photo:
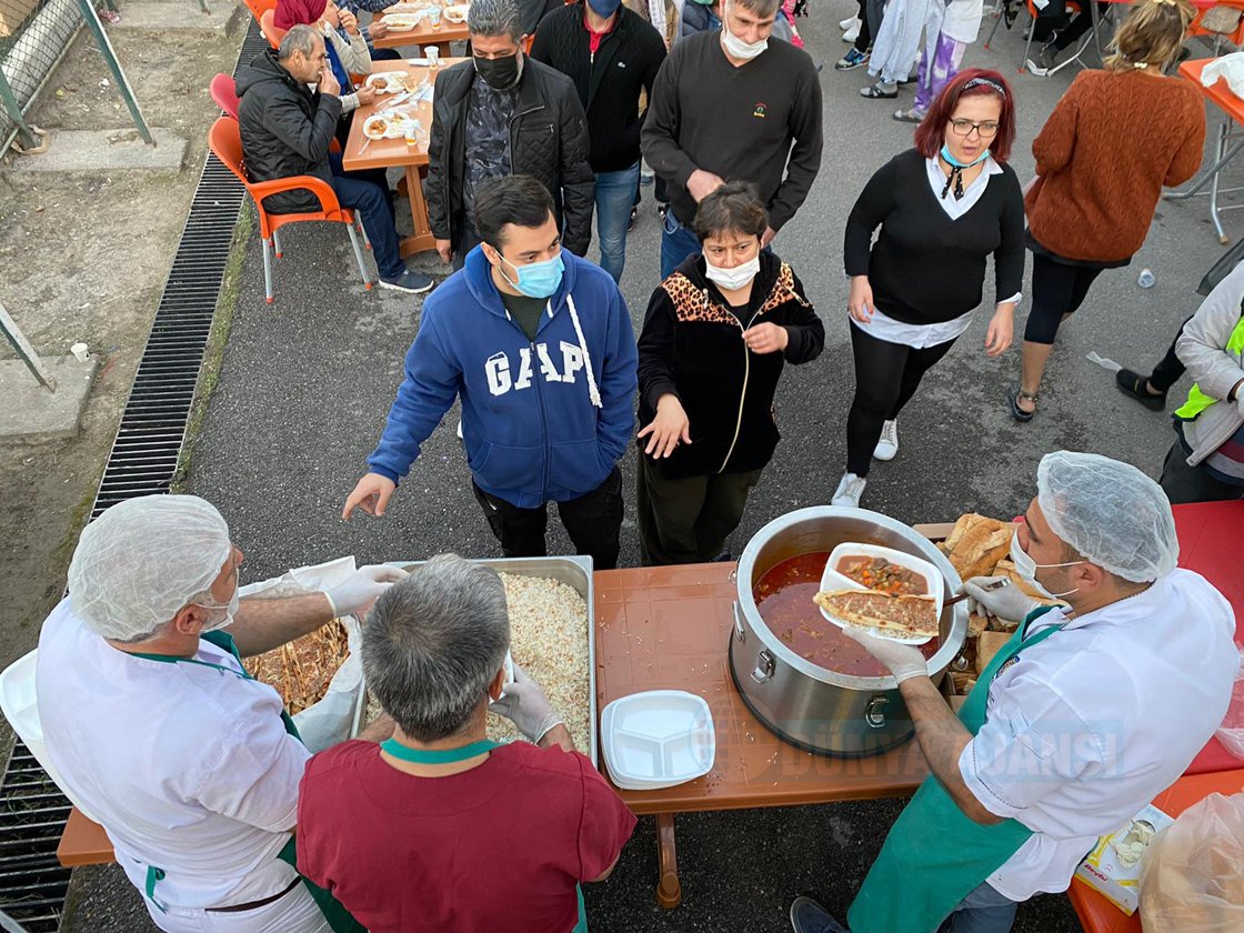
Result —
<instances>
[{"instance_id":1,"label":"red-haired woman in eyeglasses, black V-neck sweater over white shirt","mask_svg":"<svg viewBox=\"0 0 1244 933\"><path fill-rule=\"evenodd\" d=\"M1024 198L1006 164L1014 138L1005 78L968 68L916 128L916 148L882 165L851 210L845 254L856 392L833 505L858 506L872 458L898 453L898 413L968 330L990 256L996 305L985 353L1011 343L1024 280Z\"/></svg>"}]
</instances>

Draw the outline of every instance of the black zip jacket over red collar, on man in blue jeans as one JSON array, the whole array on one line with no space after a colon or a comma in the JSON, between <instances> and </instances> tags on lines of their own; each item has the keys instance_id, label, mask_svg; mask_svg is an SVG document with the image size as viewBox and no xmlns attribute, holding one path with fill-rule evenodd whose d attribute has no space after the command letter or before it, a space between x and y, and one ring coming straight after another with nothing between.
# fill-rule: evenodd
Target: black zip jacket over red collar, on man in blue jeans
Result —
<instances>
[{"instance_id":1,"label":"black zip jacket over red collar, on man in blue jeans","mask_svg":"<svg viewBox=\"0 0 1244 933\"><path fill-rule=\"evenodd\" d=\"M575 82L587 112L592 172L621 172L639 160L639 93L666 60L666 44L651 25L624 6L596 56L583 25L583 5L562 6L540 21L531 57Z\"/></svg>"}]
</instances>

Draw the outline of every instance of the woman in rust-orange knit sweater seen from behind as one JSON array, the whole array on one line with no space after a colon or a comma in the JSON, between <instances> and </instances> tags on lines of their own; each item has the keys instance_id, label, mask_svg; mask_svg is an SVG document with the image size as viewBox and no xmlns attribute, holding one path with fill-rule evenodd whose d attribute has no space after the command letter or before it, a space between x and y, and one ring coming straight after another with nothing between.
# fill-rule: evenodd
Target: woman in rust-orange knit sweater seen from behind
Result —
<instances>
[{"instance_id":1,"label":"woman in rust-orange knit sweater seen from behind","mask_svg":"<svg viewBox=\"0 0 1244 933\"><path fill-rule=\"evenodd\" d=\"M1033 143L1037 178L1025 198L1033 307L1020 381L1008 392L1016 420L1033 419L1059 325L1103 269L1132 261L1162 187L1200 167L1200 93L1163 75L1192 16L1187 0L1137 0L1106 68L1076 76Z\"/></svg>"}]
</instances>

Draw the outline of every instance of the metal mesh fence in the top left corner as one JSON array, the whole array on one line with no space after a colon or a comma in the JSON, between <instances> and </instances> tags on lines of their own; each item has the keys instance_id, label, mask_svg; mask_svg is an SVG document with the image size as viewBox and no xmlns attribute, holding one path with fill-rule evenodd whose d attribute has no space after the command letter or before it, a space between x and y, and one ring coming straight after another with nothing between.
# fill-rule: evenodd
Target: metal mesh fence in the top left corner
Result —
<instances>
[{"instance_id":1,"label":"metal mesh fence in the top left corner","mask_svg":"<svg viewBox=\"0 0 1244 933\"><path fill-rule=\"evenodd\" d=\"M0 154L35 143L25 113L81 25L78 0L0 0Z\"/></svg>"}]
</instances>

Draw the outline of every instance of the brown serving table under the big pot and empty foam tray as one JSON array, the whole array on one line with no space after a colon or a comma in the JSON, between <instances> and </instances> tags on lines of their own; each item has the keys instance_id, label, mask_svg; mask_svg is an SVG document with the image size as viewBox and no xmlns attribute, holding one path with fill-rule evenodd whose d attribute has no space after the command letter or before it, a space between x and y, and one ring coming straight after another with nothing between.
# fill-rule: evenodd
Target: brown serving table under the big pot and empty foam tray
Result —
<instances>
[{"instance_id":1,"label":"brown serving table under the big pot and empty foam tray","mask_svg":"<svg viewBox=\"0 0 1244 933\"><path fill-rule=\"evenodd\" d=\"M633 812L657 817L657 901L666 908L682 899L675 814L906 796L928 774L914 741L875 758L826 758L786 744L751 714L734 687L726 657L736 566L693 564L595 575L600 708L639 690L679 689L699 694L713 712L712 771L677 787L618 791Z\"/></svg>"}]
</instances>

